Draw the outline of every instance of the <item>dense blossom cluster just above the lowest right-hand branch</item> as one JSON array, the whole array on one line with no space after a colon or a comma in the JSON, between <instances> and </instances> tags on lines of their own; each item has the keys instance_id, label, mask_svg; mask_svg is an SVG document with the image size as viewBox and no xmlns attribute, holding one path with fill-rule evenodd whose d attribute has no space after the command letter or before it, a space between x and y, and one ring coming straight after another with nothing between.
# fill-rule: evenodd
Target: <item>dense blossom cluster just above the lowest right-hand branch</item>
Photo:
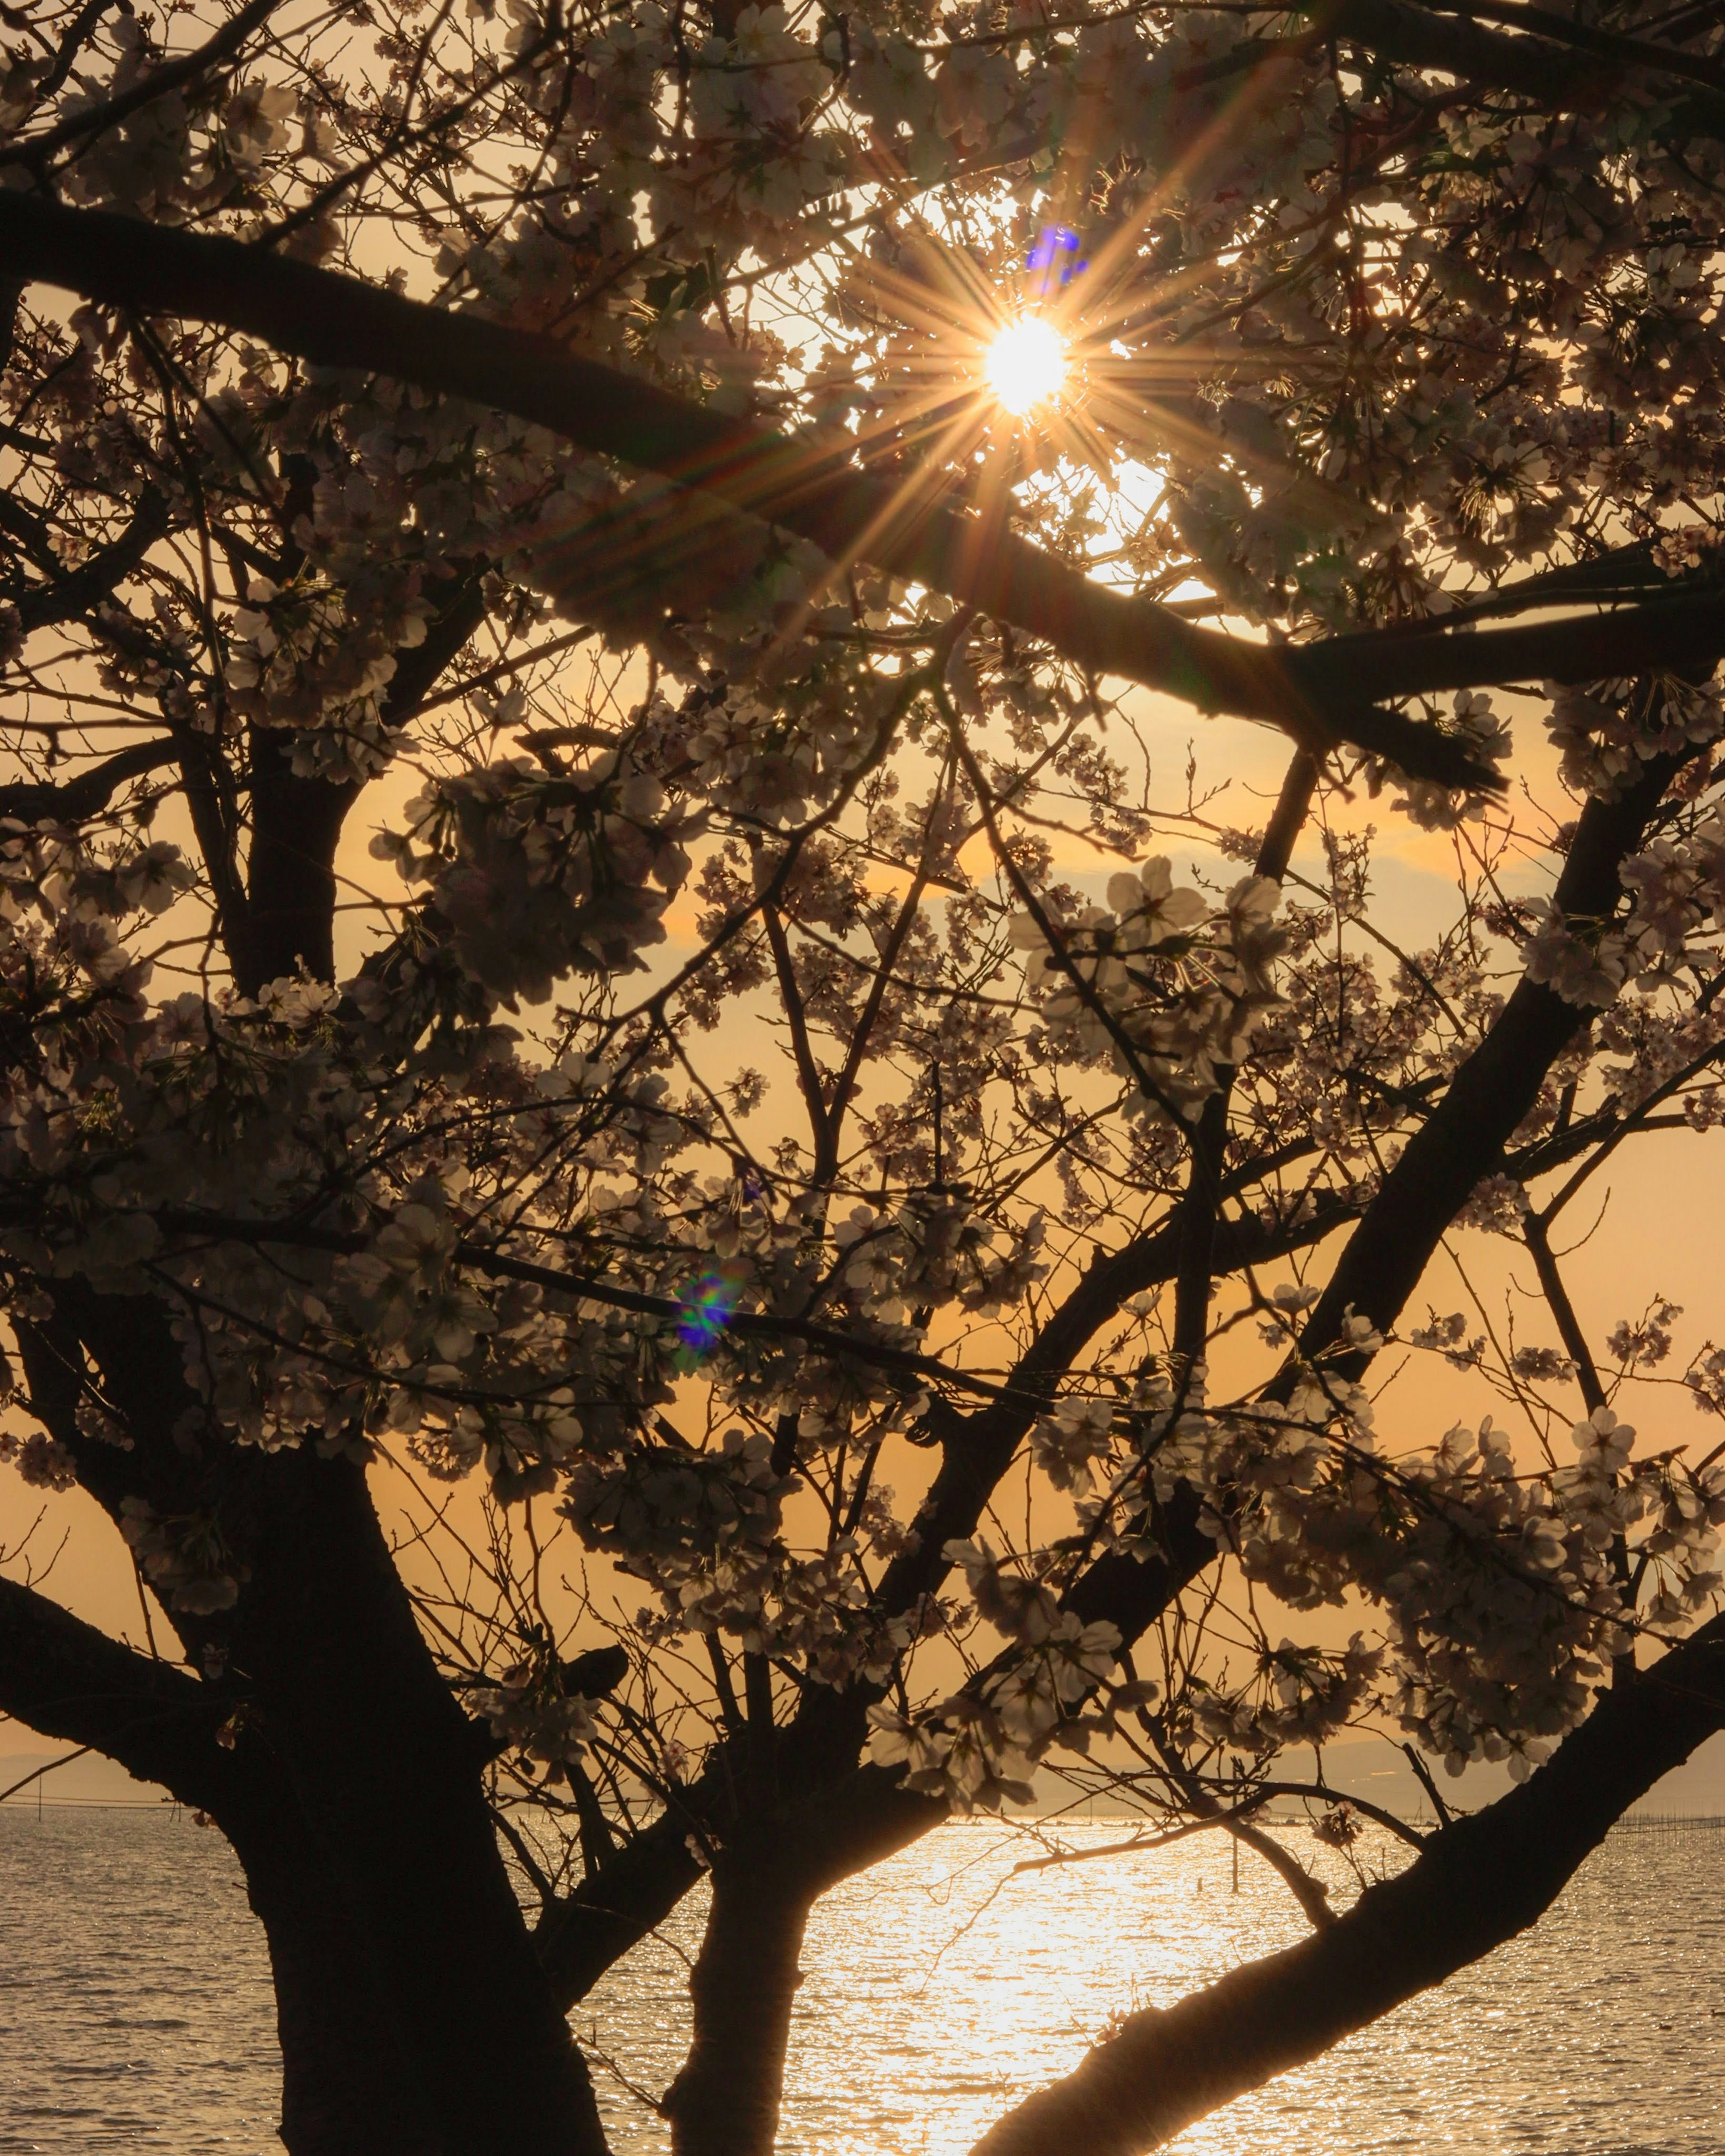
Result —
<instances>
[{"instance_id":1,"label":"dense blossom cluster just above the lowest right-hand branch","mask_svg":"<svg viewBox=\"0 0 1725 2156\"><path fill-rule=\"evenodd\" d=\"M1509 1759L1524 1777L1632 1649L1626 1565L1647 1576L1641 1621L1667 1632L1725 1585L1725 1473L1632 1460L1634 1429L1609 1408L1574 1425L1572 1466L1529 1473L1490 1416L1391 1460L1348 1391L1324 1376L1281 1412L1188 1416L1156 1455L1158 1485L1199 1488L1210 1531L1287 1608L1363 1595L1384 1623L1382 1645L1356 1636L1339 1664L1283 1643L1199 1725L1220 1738L1223 1716L1242 1751L1315 1744L1376 1695L1451 1772Z\"/></svg>"}]
</instances>

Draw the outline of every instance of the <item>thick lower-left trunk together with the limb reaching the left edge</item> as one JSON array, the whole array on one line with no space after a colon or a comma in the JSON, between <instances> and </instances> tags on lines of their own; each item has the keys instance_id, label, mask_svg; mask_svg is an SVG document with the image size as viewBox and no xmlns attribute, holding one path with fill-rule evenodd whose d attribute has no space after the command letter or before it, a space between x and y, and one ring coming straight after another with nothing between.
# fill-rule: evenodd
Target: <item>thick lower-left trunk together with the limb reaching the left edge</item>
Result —
<instances>
[{"instance_id":1,"label":"thick lower-left trunk together with the limb reaching the left edge","mask_svg":"<svg viewBox=\"0 0 1725 2156\"><path fill-rule=\"evenodd\" d=\"M364 1470L308 1445L177 1442L166 1313L75 1283L56 1302L19 1343L84 1488L114 1518L127 1496L218 1518L248 1576L231 1611L175 1617L198 1660L220 1649L205 1682L0 1583L0 1708L164 1781L226 1833L270 1940L293 2156L604 2156L498 1854L487 1738L418 1634ZM82 1352L129 1451L75 1427Z\"/></svg>"}]
</instances>

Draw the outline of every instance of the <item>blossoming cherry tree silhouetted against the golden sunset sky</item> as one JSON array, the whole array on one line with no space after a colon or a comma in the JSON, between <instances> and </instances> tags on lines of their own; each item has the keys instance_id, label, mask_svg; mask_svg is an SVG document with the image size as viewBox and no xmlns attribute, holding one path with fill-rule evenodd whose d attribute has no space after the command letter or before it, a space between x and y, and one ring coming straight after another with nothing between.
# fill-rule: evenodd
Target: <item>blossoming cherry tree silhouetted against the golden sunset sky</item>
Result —
<instances>
[{"instance_id":1,"label":"blossoming cherry tree silhouetted against the golden sunset sky","mask_svg":"<svg viewBox=\"0 0 1725 2156\"><path fill-rule=\"evenodd\" d=\"M765 2156L817 1897L1033 1789L1311 1934L990 2156L1537 1921L1725 1725L1725 1352L1563 1272L1725 1119L1719 13L2 13L0 1712L233 1843L285 2143L597 2156L701 1889Z\"/></svg>"}]
</instances>

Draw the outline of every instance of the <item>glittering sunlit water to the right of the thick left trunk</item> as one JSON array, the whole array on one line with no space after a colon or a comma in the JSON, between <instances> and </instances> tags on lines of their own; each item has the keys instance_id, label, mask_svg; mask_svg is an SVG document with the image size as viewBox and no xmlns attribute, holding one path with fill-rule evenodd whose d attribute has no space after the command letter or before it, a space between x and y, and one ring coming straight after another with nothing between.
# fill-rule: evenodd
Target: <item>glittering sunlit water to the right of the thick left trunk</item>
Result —
<instances>
[{"instance_id":1,"label":"glittering sunlit water to the right of the thick left trunk","mask_svg":"<svg viewBox=\"0 0 1725 2156\"><path fill-rule=\"evenodd\" d=\"M1119 1837L1106 1820L1059 1828L1067 1846ZM1609 1843L1535 1932L1171 2150L1721 2156L1725 2048L1708 2005L1725 2005L1725 1833L1660 1841ZM1367 1867L1402 1861L1376 1830L1361 1848ZM1110 2014L1173 2005L1305 1936L1285 1887L1246 1856L1233 1895L1227 1850L1205 1837L1009 1878L1026 1854L1022 1828L957 1822L819 1904L778 2156L966 2156L1009 2104L1070 2072ZM1307 1835L1298 1854L1346 1904L1343 1858ZM686 1951L703 1915L668 1925ZM606 2053L664 2087L688 2042L684 1981L675 1953L649 1945L586 2001L580 2029L597 2016ZM658 2119L597 2081L619 2156L668 2150Z\"/></svg>"}]
</instances>

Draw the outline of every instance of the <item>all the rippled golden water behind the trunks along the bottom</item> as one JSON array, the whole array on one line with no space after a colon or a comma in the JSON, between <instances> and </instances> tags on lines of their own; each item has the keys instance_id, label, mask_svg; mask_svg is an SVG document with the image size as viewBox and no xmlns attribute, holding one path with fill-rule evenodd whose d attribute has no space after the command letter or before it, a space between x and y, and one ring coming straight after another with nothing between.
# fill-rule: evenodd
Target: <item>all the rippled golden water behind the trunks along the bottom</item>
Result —
<instances>
[{"instance_id":1,"label":"all the rippled golden water behind the trunks along the bottom","mask_svg":"<svg viewBox=\"0 0 1725 2156\"><path fill-rule=\"evenodd\" d=\"M1117 1822L1061 1830L1072 1848ZM1307 1854L1311 1843L1300 1837ZM1013 1874L955 1824L822 1904L783 2156L962 2156L1110 2012L1298 1938L1216 1843ZM1335 1871L1337 1858L1328 1858ZM1179 2156L1725 2156L1725 1830L1611 1841L1529 1938L1192 2128ZM686 2033L688 1908L578 2016L660 2089ZM226 1846L166 1811L0 1809L0 2152L278 2156L263 1943ZM595 2068L619 2156L658 2119Z\"/></svg>"}]
</instances>

